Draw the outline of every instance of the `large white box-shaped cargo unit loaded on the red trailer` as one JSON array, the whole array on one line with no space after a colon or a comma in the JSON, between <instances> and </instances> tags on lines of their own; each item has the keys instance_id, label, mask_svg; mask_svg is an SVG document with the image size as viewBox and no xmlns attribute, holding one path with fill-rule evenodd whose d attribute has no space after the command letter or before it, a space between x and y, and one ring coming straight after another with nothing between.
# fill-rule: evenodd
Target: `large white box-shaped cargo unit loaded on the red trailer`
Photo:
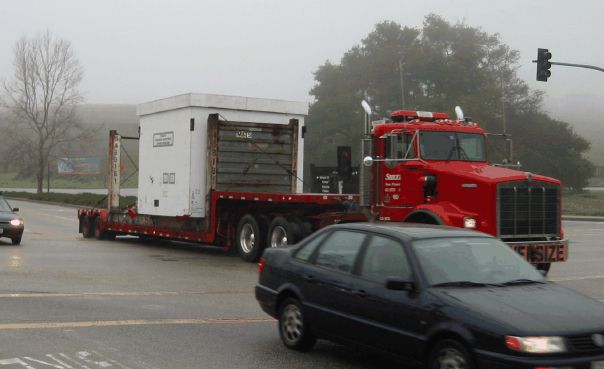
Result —
<instances>
[{"instance_id":1,"label":"large white box-shaped cargo unit loaded on the red trailer","mask_svg":"<svg viewBox=\"0 0 604 369\"><path fill-rule=\"evenodd\" d=\"M212 189L301 192L307 113L305 102L195 93L140 104L138 213L204 218Z\"/></svg>"}]
</instances>

